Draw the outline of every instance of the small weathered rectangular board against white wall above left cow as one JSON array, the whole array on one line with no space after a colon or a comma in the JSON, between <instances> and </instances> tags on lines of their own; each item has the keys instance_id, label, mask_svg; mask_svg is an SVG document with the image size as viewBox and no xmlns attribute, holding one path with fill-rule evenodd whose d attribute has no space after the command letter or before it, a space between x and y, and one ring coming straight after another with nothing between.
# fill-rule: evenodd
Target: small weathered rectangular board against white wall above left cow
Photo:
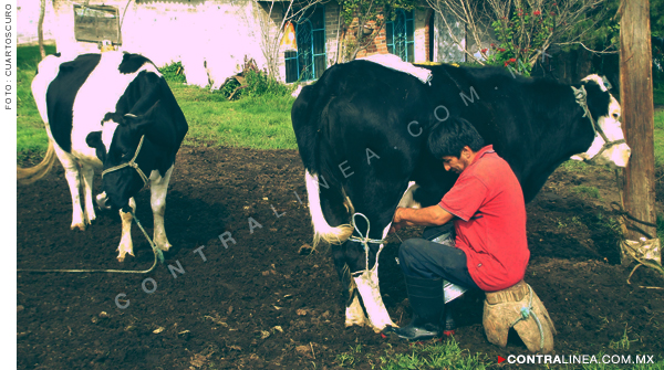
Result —
<instances>
[{"instance_id":1,"label":"small weathered rectangular board against white wall above left cow","mask_svg":"<svg viewBox=\"0 0 664 370\"><path fill-rule=\"evenodd\" d=\"M74 6L74 36L76 41L111 40L121 44L117 8L105 6Z\"/></svg>"}]
</instances>

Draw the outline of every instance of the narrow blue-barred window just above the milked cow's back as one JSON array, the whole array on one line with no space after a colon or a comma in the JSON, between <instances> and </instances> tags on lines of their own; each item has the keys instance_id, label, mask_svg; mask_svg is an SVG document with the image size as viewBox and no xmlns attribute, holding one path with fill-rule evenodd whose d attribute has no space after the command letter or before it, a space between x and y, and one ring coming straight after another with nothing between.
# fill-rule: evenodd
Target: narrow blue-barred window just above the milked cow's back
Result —
<instances>
[{"instance_id":1,"label":"narrow blue-barred window just above the milked cow's back","mask_svg":"<svg viewBox=\"0 0 664 370\"><path fill-rule=\"evenodd\" d=\"M415 28L413 11L396 11L394 21L385 23L387 52L397 55L404 62L415 61Z\"/></svg>"}]
</instances>

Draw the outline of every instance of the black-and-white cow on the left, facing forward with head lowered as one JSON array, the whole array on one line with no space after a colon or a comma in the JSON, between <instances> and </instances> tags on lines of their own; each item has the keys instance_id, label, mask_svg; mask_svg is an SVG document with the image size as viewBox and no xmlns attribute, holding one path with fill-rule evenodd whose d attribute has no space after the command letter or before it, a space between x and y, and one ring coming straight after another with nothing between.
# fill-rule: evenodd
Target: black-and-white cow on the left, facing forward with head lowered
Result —
<instances>
[{"instance_id":1,"label":"black-and-white cow on the left, facing forward with head lowered","mask_svg":"<svg viewBox=\"0 0 664 370\"><path fill-rule=\"evenodd\" d=\"M149 186L154 242L167 251L172 245L164 230L166 191L188 126L157 67L145 56L121 52L75 59L49 55L38 66L32 95L46 127L49 150L37 167L19 169L19 180L40 179L52 167L53 154L58 156L72 194L71 229L85 230L95 219L94 171L103 170L103 192L96 202L120 211L121 262L127 253L134 255L133 197Z\"/></svg>"}]
</instances>

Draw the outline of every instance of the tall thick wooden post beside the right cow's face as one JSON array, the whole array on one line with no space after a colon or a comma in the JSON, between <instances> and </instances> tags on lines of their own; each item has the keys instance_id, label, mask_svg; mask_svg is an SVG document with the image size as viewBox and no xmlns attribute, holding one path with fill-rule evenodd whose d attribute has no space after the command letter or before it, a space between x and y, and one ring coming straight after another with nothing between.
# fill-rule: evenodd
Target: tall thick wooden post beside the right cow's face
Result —
<instances>
[{"instance_id":1,"label":"tall thick wooden post beside the right cow's face","mask_svg":"<svg viewBox=\"0 0 664 370\"><path fill-rule=\"evenodd\" d=\"M620 97L625 139L632 149L630 163L624 170L624 208L636 219L655 223L654 108L649 0L621 1ZM657 236L655 228L633 224L653 237ZM629 240L639 240L644 235L629 230L625 236Z\"/></svg>"}]
</instances>

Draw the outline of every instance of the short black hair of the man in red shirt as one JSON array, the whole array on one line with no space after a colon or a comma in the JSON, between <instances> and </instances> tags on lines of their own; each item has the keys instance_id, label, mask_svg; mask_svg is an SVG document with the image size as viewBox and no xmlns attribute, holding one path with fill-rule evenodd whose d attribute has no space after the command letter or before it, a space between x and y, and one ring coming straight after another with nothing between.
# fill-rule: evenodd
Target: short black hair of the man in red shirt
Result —
<instances>
[{"instance_id":1,"label":"short black hair of the man in red shirt","mask_svg":"<svg viewBox=\"0 0 664 370\"><path fill-rule=\"evenodd\" d=\"M464 118L449 117L445 121L437 123L428 137L429 151L436 158L461 156L465 146L473 151L484 147L484 139L479 133Z\"/></svg>"}]
</instances>

